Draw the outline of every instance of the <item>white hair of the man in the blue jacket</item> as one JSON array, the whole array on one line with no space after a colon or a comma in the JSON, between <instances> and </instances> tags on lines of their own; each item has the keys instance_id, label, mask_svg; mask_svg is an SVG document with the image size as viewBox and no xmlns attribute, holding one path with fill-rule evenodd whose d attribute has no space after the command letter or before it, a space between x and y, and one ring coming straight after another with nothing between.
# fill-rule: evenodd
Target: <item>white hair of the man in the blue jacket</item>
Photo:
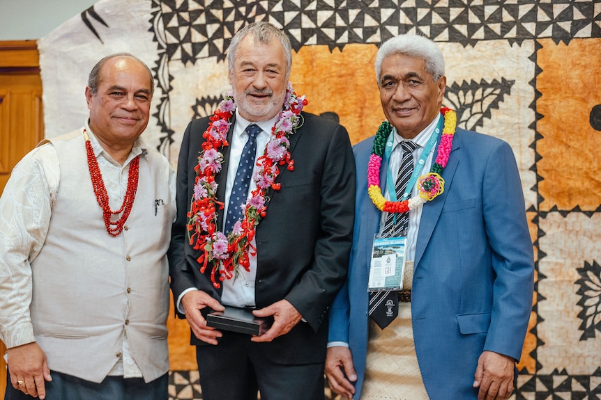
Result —
<instances>
[{"instance_id":1,"label":"white hair of the man in the blue jacket","mask_svg":"<svg viewBox=\"0 0 601 400\"><path fill-rule=\"evenodd\" d=\"M375 65L378 85L380 84L384 58L395 54L422 58L426 63L426 71L432 74L434 81L438 81L445 74L445 59L436 43L425 38L425 36L398 35L386 40L378 50Z\"/></svg>"}]
</instances>

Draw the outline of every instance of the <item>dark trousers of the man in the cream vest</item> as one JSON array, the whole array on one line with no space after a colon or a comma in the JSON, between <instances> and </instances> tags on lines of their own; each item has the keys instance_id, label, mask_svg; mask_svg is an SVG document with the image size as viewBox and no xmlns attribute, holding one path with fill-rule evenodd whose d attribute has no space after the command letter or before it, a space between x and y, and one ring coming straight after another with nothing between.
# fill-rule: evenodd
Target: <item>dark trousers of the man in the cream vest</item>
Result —
<instances>
[{"instance_id":1,"label":"dark trousers of the man in the cream vest","mask_svg":"<svg viewBox=\"0 0 601 400\"><path fill-rule=\"evenodd\" d=\"M169 374L152 382L143 378L107 376L101 383L86 381L75 376L51 371L52 381L46 382L46 400L167 400L169 399ZM6 379L4 400L32 400L29 394L16 390Z\"/></svg>"}]
</instances>

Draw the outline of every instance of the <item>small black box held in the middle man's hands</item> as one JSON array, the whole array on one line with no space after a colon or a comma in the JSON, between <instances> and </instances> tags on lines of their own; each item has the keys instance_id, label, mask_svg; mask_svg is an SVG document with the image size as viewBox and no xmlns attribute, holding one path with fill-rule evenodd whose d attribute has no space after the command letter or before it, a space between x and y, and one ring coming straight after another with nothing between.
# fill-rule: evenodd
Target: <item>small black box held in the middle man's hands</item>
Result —
<instances>
[{"instance_id":1,"label":"small black box held in the middle man's hands","mask_svg":"<svg viewBox=\"0 0 601 400\"><path fill-rule=\"evenodd\" d=\"M206 326L219 330L246 333L248 335L263 335L273 323L273 318L259 318L248 308L225 306L224 311L210 312L206 316Z\"/></svg>"}]
</instances>

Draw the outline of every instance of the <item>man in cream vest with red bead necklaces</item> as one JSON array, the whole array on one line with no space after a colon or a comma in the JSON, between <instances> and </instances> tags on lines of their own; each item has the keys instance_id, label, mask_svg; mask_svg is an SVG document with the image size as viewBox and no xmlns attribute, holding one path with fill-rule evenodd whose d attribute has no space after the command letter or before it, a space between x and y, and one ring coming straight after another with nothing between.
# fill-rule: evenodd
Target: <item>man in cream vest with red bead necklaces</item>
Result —
<instances>
[{"instance_id":1,"label":"man in cream vest with red bead necklaces","mask_svg":"<svg viewBox=\"0 0 601 400\"><path fill-rule=\"evenodd\" d=\"M102 58L85 126L13 170L0 198L6 399L168 398L175 182L139 138L153 88L134 56Z\"/></svg>"}]
</instances>

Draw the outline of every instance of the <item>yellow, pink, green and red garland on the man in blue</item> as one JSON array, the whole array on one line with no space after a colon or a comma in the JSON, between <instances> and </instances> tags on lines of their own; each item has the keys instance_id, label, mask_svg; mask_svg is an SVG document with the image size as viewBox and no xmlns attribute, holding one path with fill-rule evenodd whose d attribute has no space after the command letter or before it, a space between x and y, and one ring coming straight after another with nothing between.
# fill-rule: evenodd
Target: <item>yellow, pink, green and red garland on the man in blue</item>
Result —
<instances>
[{"instance_id":1,"label":"yellow, pink, green and red garland on the man in blue","mask_svg":"<svg viewBox=\"0 0 601 400\"><path fill-rule=\"evenodd\" d=\"M445 181L441 175L449 159L453 135L455 134L455 129L457 129L457 115L455 114L455 111L446 107L441 109L441 113L444 116L445 122L441 143L439 145L439 152L436 154L436 160L434 160L430 172L426 175L422 175L420 179L418 179L419 195L400 202L388 201L381 193L379 184L380 166L384 154L384 147L386 147L386 140L393 127L390 126L388 121L384 121L378 128L376 137L374 138L372 155L370 156L370 161L367 165L367 192L370 194L370 198L372 199L372 202L374 202L374 205L378 207L380 211L403 213L410 209L416 209L425 202L433 200L437 195L443 193Z\"/></svg>"}]
</instances>

